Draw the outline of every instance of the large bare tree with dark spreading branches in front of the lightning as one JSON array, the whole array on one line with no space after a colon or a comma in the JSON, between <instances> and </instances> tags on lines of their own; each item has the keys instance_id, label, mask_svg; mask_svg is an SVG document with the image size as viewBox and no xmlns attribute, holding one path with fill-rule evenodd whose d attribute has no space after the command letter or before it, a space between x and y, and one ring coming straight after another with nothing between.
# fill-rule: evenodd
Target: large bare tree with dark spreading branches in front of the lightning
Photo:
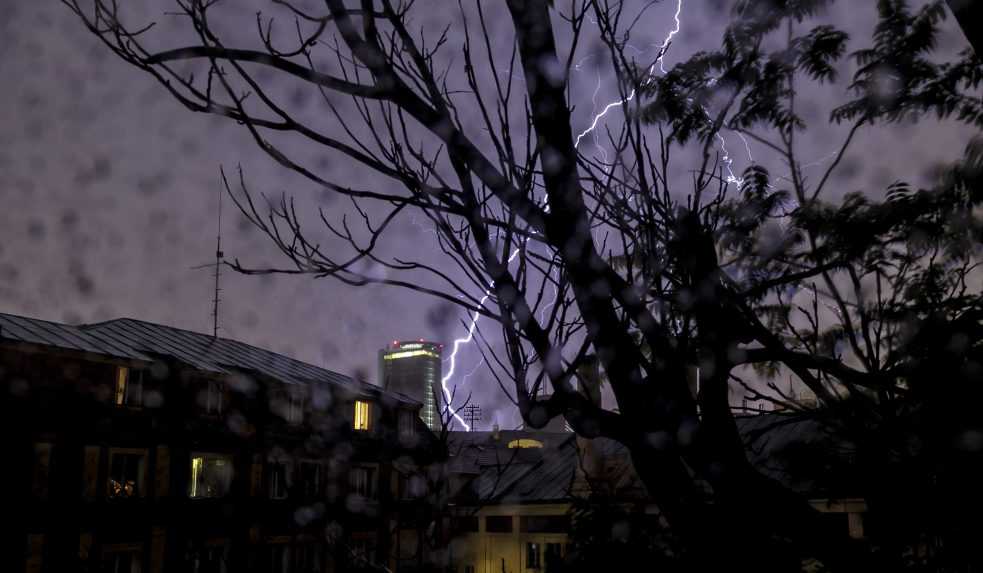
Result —
<instances>
[{"instance_id":1,"label":"large bare tree with dark spreading branches in front of the lightning","mask_svg":"<svg viewBox=\"0 0 983 573\"><path fill-rule=\"evenodd\" d=\"M939 4L912 15L901 2L882 3L880 35L860 55L851 85L856 97L834 116L851 128L813 183L797 155L805 123L795 81L832 80L846 38L827 26L794 27L827 2L738 2L721 50L665 75L655 73L661 52L642 62L628 49L650 4L632 12L613 1L506 0L495 13L507 13L514 31L503 49L481 2L460 2L459 29L434 32L414 27L425 7L413 1L325 0L314 8L273 0L291 30L258 14L253 47L227 44L219 32L226 8L214 0L175 0L194 40L165 47L115 2L63 2L188 109L240 123L274 161L350 200L357 224L320 212L350 247L339 254L321 246L292 199L260 197L241 169L223 174L242 212L288 261L253 268L236 260L237 270L413 289L493 320L502 340L479 332L483 356L525 422L542 427L564 416L580 435L628 447L693 567L733 563L748 544L759 549L748 558L768 570L816 555L849 566L839 538L826 535L804 500L751 466L729 394L743 370L777 368L827 405L844 396L884 403L904 394L899 380L914 372L898 318L913 273L942 271L942 300L978 296L965 288L972 249L943 262L910 241L919 215L941 217L951 202L905 190L921 212L881 219L891 205L865 203L851 219L856 198L824 203L857 131L926 111L981 117L979 102L963 95L979 82L978 60L968 54L931 67L925 59ZM571 69L588 33L604 46L625 110L603 134L608 159L580 153L571 126ZM785 46L765 50L776 35ZM906 77L918 79L885 103L875 97L877 62L907 62ZM292 110L263 69L316 90L327 117ZM731 132L773 150L791 173L790 190L776 189L760 166L728 173L716 141ZM359 188L332 180L285 145L289 138L388 181ZM699 167L677 189L674 153L687 142ZM386 254L387 232L407 213L432 225L445 264ZM836 239L834 231L871 221L882 223L871 240ZM935 237L934 248L953 233ZM872 264L878 250L906 262ZM616 410L575 386L590 356ZM696 368L698 396L689 384ZM545 385L548 398L540 396ZM787 402L777 386L763 396Z\"/></svg>"}]
</instances>

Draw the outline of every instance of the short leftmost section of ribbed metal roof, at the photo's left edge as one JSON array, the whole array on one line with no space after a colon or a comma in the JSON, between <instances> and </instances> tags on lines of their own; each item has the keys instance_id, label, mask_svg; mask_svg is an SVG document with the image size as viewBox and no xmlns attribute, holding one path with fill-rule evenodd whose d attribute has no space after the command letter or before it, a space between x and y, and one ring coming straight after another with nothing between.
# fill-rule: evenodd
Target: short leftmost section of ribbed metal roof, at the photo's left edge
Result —
<instances>
[{"instance_id":1,"label":"short leftmost section of ribbed metal roof, at the photo's left edge","mask_svg":"<svg viewBox=\"0 0 983 573\"><path fill-rule=\"evenodd\" d=\"M9 341L114 358L152 360L125 340L107 338L69 324L0 313L0 343Z\"/></svg>"}]
</instances>

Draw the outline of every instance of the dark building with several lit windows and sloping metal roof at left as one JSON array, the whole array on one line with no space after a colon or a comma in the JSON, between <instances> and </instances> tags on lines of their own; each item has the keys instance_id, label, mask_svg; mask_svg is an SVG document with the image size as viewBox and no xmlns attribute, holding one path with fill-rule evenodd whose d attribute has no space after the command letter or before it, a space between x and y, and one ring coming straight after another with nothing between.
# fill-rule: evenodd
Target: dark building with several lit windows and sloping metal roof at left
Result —
<instances>
[{"instance_id":1,"label":"dark building with several lit windows and sloping metal roof at left","mask_svg":"<svg viewBox=\"0 0 983 573\"><path fill-rule=\"evenodd\" d=\"M0 571L388 566L396 484L430 450L406 396L131 319L0 314L0 391Z\"/></svg>"}]
</instances>

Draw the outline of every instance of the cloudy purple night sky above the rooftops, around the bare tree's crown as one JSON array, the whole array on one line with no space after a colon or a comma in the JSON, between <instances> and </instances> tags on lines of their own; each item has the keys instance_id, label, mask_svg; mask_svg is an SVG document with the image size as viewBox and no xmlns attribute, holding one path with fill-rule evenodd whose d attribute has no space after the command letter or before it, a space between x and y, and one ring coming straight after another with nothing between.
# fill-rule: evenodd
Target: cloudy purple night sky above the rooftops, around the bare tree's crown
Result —
<instances>
[{"instance_id":1,"label":"cloudy purple night sky above the rooftops, around the bare tree's crown","mask_svg":"<svg viewBox=\"0 0 983 573\"><path fill-rule=\"evenodd\" d=\"M160 17L166 2L137 4L154 6L144 14L160 20L164 31L176 29L177 22ZM230 4L241 13L241 21L227 22L223 30L229 38L255 41L256 6L268 4ZM511 30L499 4L504 2L486 3L491 12L499 11L495 34L507 54ZM719 42L728 4L686 0L666 64ZM214 256L219 166L234 170L241 164L254 188L287 192L305 209L330 206L332 199L274 165L240 126L182 108L152 78L119 61L59 2L3 0L3 5L0 312L69 323L125 316L210 332L210 270L192 267ZM869 38L873 6L873 0L840 0L829 19L856 42ZM675 7L675 0L665 0L648 13L637 42L633 39L638 50L654 53L673 27ZM426 18L452 13L429 10ZM434 24L439 22L423 22ZM941 52L963 49L967 43L954 19L945 27ZM455 42L460 38L452 36L450 44ZM597 50L588 46L584 55L591 53ZM590 123L592 109L612 100L614 89L603 81L607 77L607 70L591 58L575 71L575 132ZM843 79L804 98L805 115L827 113L829 98L843 89ZM294 89L284 86L287 92ZM298 90L291 95L294 103L316 113L310 94ZM815 157L820 167L839 133L832 128L807 133L803 154ZM836 192L881 190L900 178L925 182L940 160L951 160L961 151L966 135L950 125L925 122L865 136L845 162ZM747 154L738 140L728 143L734 169L740 172L748 164ZM597 152L591 141L584 145L584 151ZM760 150L752 147L752 152L755 159L769 161ZM343 161L318 160L335 180L359 176L351 172L349 177L350 167ZM679 176L688 177L684 170ZM257 266L282 262L228 201L223 241L230 258ZM427 254L432 239L412 220L398 227L392 241L396 251L422 253L424 260L447 265L439 255ZM231 271L224 273L222 287L221 335L371 380L376 351L387 341L422 337L450 344L462 331L463 312L448 312L424 295L386 287L353 288L331 279L247 277ZM489 334L495 335L491 328ZM476 352L465 351L460 358L459 372L475 369ZM485 408L485 425L492 420L503 426L518 422L497 384L481 369L468 386Z\"/></svg>"}]
</instances>

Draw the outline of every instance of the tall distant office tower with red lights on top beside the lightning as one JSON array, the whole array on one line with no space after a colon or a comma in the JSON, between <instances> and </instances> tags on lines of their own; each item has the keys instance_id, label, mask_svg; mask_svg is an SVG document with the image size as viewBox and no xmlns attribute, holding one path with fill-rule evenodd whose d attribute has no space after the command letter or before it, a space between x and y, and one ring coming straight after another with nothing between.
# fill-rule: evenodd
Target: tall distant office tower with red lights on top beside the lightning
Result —
<instances>
[{"instance_id":1,"label":"tall distant office tower with red lights on top beside the lightning","mask_svg":"<svg viewBox=\"0 0 983 573\"><path fill-rule=\"evenodd\" d=\"M420 418L431 430L440 429L438 396L441 386L440 354L435 342L393 341L379 351L379 381L386 390L401 392L423 404Z\"/></svg>"}]
</instances>

